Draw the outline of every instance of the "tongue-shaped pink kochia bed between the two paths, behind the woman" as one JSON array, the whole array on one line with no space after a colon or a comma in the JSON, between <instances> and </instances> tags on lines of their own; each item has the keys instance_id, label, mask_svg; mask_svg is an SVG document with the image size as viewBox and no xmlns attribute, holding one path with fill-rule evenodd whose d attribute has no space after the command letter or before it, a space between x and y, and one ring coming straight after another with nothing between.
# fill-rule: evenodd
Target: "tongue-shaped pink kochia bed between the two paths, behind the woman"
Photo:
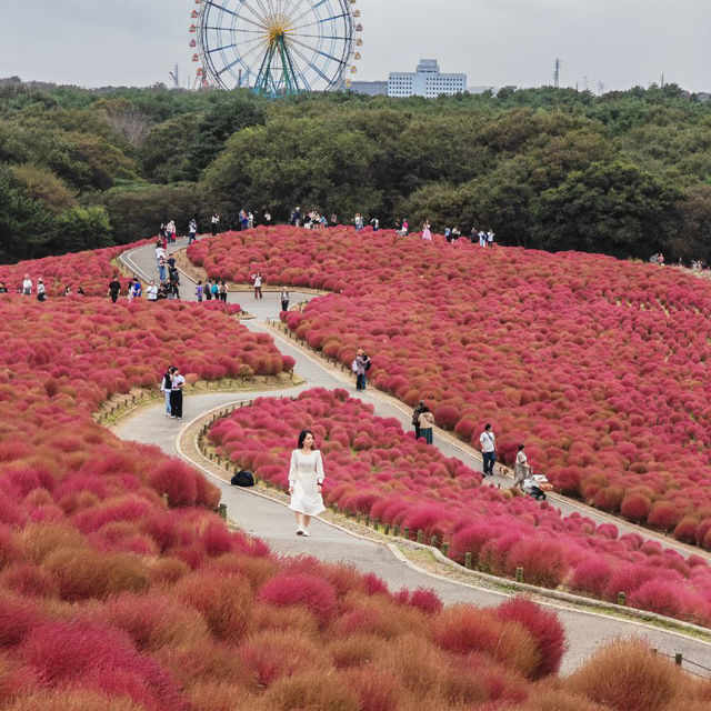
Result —
<instances>
[{"instance_id":1,"label":"tongue-shaped pink kochia bed between the two paths, behind the woman","mask_svg":"<svg viewBox=\"0 0 711 711\"><path fill-rule=\"evenodd\" d=\"M479 473L415 441L397 420L374 417L344 390L258 399L216 422L209 437L221 455L286 489L290 451L304 427L324 454L328 503L411 535L437 535L454 560L471 552L487 572L512 577L521 567L532 584L610 601L624 592L631 605L711 625L711 567L698 557L684 560L610 524L563 518L530 498L481 487Z\"/></svg>"}]
</instances>

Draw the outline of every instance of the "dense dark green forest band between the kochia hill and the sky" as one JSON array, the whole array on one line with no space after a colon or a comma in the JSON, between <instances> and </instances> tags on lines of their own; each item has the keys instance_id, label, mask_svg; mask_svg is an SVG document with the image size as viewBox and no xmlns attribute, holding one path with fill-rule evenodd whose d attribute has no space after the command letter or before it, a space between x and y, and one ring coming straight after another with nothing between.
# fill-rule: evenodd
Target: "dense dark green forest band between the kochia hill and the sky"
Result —
<instances>
[{"instance_id":1,"label":"dense dark green forest band between the kochia hill and the sky","mask_svg":"<svg viewBox=\"0 0 711 711\"><path fill-rule=\"evenodd\" d=\"M0 260L317 209L711 262L711 102L674 84L435 100L0 83Z\"/></svg>"}]
</instances>

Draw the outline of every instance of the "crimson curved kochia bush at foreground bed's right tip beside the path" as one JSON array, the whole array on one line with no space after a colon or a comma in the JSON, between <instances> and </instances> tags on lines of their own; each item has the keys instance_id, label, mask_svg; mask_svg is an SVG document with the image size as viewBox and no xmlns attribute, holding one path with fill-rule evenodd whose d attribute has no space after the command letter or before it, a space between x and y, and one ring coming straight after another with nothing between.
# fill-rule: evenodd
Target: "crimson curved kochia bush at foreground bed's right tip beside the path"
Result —
<instances>
[{"instance_id":1,"label":"crimson curved kochia bush at foreground bed's right tip beside the path","mask_svg":"<svg viewBox=\"0 0 711 711\"><path fill-rule=\"evenodd\" d=\"M500 620L518 622L537 640L541 655L532 679L558 673L568 644L563 625L553 612L519 597L500 604L495 613Z\"/></svg>"}]
</instances>

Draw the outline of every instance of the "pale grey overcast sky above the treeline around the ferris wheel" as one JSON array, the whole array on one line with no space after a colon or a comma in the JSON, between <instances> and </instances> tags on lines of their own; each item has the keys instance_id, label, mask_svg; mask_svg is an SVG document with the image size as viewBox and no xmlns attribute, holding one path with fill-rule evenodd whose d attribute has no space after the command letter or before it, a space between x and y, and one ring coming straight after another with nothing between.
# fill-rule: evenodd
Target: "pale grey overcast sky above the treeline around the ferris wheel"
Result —
<instances>
[{"instance_id":1,"label":"pale grey overcast sky above the treeline around the ferris wheel","mask_svg":"<svg viewBox=\"0 0 711 711\"><path fill-rule=\"evenodd\" d=\"M226 0L228 2L236 0ZM188 47L191 0L0 0L0 77L74 83L169 82ZM711 0L359 0L358 79L435 58L469 86L552 83L597 91L677 82L711 91Z\"/></svg>"}]
</instances>

